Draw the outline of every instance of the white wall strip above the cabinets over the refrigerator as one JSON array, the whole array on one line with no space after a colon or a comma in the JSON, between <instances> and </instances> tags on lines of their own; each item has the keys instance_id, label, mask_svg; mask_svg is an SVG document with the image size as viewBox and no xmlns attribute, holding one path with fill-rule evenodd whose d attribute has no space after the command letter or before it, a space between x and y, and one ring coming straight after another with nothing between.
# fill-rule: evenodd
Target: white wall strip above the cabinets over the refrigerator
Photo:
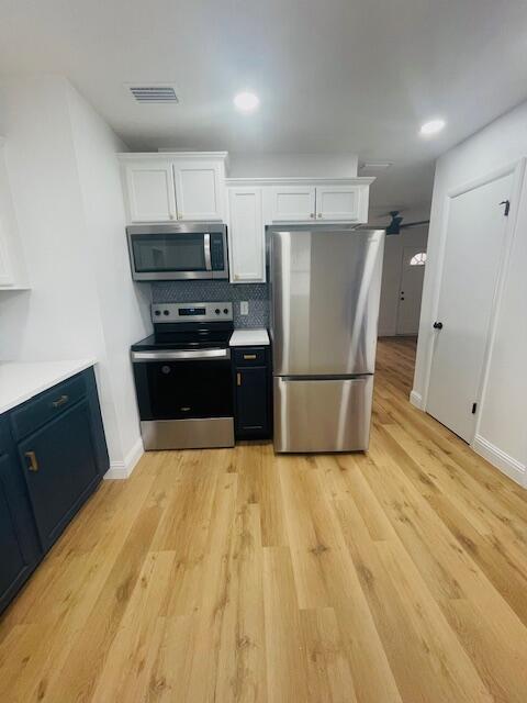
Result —
<instances>
[{"instance_id":1,"label":"white wall strip above the cabinets over the refrigerator","mask_svg":"<svg viewBox=\"0 0 527 703\"><path fill-rule=\"evenodd\" d=\"M355 178L356 154L242 154L229 153L232 178L328 177Z\"/></svg>"}]
</instances>

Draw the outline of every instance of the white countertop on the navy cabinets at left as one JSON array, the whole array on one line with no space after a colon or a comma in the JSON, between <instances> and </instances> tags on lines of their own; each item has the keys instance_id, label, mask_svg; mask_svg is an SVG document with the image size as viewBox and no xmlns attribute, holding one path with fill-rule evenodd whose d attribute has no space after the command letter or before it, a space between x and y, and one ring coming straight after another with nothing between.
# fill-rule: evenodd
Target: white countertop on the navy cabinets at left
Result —
<instances>
[{"instance_id":1,"label":"white countertop on the navy cabinets at left","mask_svg":"<svg viewBox=\"0 0 527 703\"><path fill-rule=\"evenodd\" d=\"M93 366L75 361L0 361L0 414Z\"/></svg>"}]
</instances>

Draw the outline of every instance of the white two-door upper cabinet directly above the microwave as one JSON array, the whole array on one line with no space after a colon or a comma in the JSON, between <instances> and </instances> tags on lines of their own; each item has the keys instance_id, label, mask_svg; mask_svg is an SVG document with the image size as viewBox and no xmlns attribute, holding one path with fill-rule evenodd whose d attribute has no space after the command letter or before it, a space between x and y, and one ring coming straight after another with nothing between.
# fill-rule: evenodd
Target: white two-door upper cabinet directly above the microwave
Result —
<instances>
[{"instance_id":1,"label":"white two-door upper cabinet directly above the microwave","mask_svg":"<svg viewBox=\"0 0 527 703\"><path fill-rule=\"evenodd\" d=\"M223 152L121 154L127 221L224 221Z\"/></svg>"}]
</instances>

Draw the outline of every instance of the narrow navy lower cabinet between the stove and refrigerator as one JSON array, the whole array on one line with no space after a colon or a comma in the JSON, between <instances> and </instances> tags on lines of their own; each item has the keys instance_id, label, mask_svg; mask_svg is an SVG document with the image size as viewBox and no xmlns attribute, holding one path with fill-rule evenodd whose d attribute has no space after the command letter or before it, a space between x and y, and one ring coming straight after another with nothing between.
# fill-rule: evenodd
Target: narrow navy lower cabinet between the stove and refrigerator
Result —
<instances>
[{"instance_id":1,"label":"narrow navy lower cabinet between the stove and refrigerator","mask_svg":"<svg viewBox=\"0 0 527 703\"><path fill-rule=\"evenodd\" d=\"M270 368L267 348L236 348L234 383L236 437L238 439L270 437Z\"/></svg>"}]
</instances>

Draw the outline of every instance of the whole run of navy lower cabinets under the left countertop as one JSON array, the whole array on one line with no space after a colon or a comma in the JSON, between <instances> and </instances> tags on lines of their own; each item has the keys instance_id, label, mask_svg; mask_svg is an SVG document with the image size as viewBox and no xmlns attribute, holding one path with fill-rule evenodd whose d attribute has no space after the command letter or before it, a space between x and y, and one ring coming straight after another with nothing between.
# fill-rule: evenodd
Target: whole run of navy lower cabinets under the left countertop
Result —
<instances>
[{"instance_id":1,"label":"whole run of navy lower cabinets under the left countertop","mask_svg":"<svg viewBox=\"0 0 527 703\"><path fill-rule=\"evenodd\" d=\"M0 612L109 464L92 368L0 416Z\"/></svg>"}]
</instances>

